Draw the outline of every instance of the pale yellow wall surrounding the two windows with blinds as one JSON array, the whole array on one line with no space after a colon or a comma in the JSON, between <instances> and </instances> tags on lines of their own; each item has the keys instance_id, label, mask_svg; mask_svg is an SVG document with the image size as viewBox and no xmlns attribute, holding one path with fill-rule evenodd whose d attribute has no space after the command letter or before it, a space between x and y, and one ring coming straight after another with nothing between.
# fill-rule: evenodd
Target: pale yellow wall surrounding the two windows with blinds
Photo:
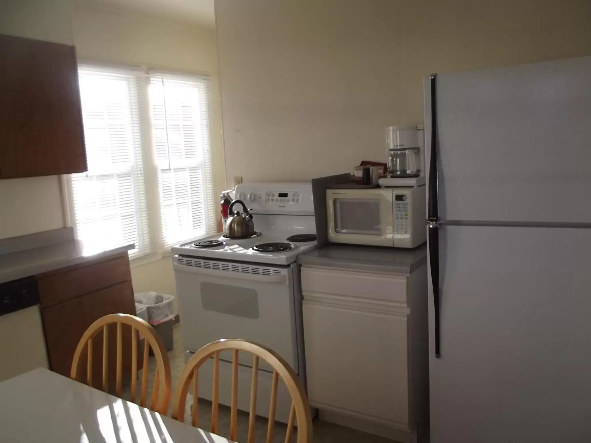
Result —
<instances>
[{"instance_id":1,"label":"pale yellow wall surrounding the two windows with blinds","mask_svg":"<svg viewBox=\"0 0 591 443\"><path fill-rule=\"evenodd\" d=\"M222 122L215 31L73 2L76 51L80 60L190 71L212 77L211 141L214 188L224 189ZM176 294L170 257L131 268L134 291Z\"/></svg>"}]
</instances>

